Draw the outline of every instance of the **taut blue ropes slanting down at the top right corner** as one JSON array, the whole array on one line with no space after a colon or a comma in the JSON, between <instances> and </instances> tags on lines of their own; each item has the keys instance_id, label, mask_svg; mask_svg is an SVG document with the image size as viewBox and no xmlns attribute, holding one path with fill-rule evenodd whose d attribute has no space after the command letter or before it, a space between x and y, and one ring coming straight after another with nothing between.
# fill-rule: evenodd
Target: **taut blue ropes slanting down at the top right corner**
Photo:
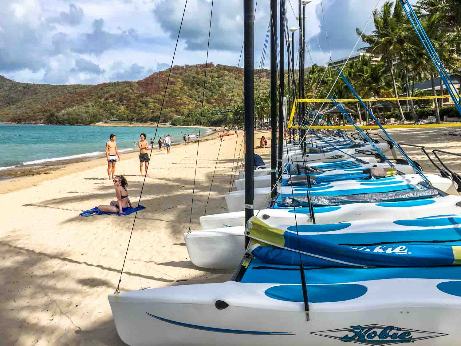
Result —
<instances>
[{"instance_id":1,"label":"taut blue ropes slanting down at the top right corner","mask_svg":"<svg viewBox=\"0 0 461 346\"><path fill-rule=\"evenodd\" d=\"M458 90L455 88L453 81L451 80L448 72L445 70L445 66L443 66L443 63L440 60L431 41L429 40L429 37L427 36L426 31L424 30L420 20L418 19L418 16L414 12L413 7L411 6L409 2L407 2L406 0L400 0L400 3L402 4L403 10L407 14L408 19L410 20L411 24L414 27L414 30L418 34L424 48L426 49L427 54L429 54L429 57L431 58L432 63L434 64L438 74L440 75L440 78L442 79L443 84L445 85L445 88L447 88L447 91L449 92L453 102L455 103L456 108L458 109L458 112L461 115L461 106L460 106L461 98L460 98L460 95L458 94ZM442 91L443 90L440 90L441 94L442 94Z\"/></svg>"}]
</instances>

